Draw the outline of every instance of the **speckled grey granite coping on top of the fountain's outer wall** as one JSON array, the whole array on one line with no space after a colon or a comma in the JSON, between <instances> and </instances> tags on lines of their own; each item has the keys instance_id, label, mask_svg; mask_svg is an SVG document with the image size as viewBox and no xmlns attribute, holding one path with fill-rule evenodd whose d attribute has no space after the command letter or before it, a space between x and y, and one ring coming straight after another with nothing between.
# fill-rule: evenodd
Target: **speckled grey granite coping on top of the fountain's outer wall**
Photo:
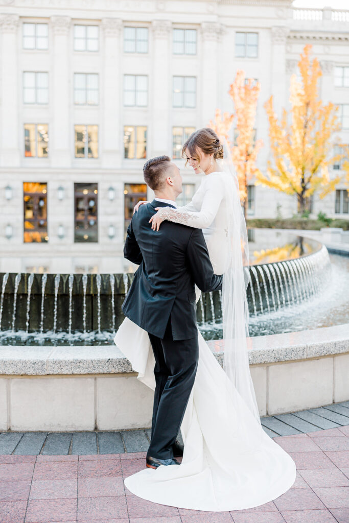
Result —
<instances>
[{"instance_id":1,"label":"speckled grey granite coping on top of the fountain's outer wall","mask_svg":"<svg viewBox=\"0 0 349 523\"><path fill-rule=\"evenodd\" d=\"M208 342L222 365L223 340ZM349 352L349 323L247 339L250 365L297 361ZM130 362L115 345L0 346L0 374L125 374Z\"/></svg>"}]
</instances>

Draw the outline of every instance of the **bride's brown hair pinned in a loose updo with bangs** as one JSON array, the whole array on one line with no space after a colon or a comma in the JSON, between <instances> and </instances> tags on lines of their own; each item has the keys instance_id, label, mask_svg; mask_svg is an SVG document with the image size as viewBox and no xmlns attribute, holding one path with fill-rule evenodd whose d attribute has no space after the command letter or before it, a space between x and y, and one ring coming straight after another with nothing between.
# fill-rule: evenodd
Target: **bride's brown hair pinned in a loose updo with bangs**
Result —
<instances>
[{"instance_id":1,"label":"bride's brown hair pinned in a loose updo with bangs","mask_svg":"<svg viewBox=\"0 0 349 523\"><path fill-rule=\"evenodd\" d=\"M201 156L198 153L197 148L200 147L201 151L205 154L212 154L215 160L223 158L223 144L219 140L217 134L210 127L203 127L194 131L190 134L188 140L183 145L182 158L186 158L186 149L188 149L190 156L195 158L200 164ZM185 162L187 165L188 160Z\"/></svg>"}]
</instances>

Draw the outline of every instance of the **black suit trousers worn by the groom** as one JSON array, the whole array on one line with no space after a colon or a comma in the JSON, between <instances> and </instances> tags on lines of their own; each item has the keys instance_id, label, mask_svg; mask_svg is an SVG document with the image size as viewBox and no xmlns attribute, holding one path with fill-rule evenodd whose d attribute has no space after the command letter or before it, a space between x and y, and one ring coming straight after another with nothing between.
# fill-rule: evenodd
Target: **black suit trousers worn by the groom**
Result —
<instances>
[{"instance_id":1,"label":"black suit trousers worn by the groom","mask_svg":"<svg viewBox=\"0 0 349 523\"><path fill-rule=\"evenodd\" d=\"M164 338L149 334L155 357L155 392L148 456L173 458L173 444L192 391L199 358L198 337L174 341L171 319Z\"/></svg>"}]
</instances>

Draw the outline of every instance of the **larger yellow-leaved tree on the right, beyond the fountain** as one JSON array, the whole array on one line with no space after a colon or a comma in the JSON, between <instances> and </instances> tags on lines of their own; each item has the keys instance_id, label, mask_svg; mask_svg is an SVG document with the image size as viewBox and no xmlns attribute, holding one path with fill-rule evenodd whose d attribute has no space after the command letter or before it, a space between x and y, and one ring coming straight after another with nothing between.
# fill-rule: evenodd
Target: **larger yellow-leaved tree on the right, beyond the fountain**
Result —
<instances>
[{"instance_id":1,"label":"larger yellow-leaved tree on the right, beyond the fountain","mask_svg":"<svg viewBox=\"0 0 349 523\"><path fill-rule=\"evenodd\" d=\"M332 103L324 105L319 98L322 73L319 61L311 61L310 52L311 46L307 45L300 55L301 82L295 74L291 77L290 122L286 109L278 121L272 96L264 104L273 163L268 162L266 175L256 174L256 184L295 196L300 213L309 209L315 191L323 198L341 180L341 176L331 178L329 173L329 167L341 156L332 155L332 135L340 129L337 107Z\"/></svg>"}]
</instances>

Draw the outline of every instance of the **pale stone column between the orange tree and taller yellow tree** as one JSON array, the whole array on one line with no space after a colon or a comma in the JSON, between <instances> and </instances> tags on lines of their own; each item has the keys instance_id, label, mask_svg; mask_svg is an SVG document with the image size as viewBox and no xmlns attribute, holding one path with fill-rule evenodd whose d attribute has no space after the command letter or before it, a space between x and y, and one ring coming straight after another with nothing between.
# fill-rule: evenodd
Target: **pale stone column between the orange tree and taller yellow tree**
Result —
<instances>
[{"instance_id":1,"label":"pale stone column between the orange tree and taller yellow tree","mask_svg":"<svg viewBox=\"0 0 349 523\"><path fill-rule=\"evenodd\" d=\"M284 26L272 27L272 95L273 106L278 118L288 101L286 86L286 39L289 29Z\"/></svg>"}]
</instances>

